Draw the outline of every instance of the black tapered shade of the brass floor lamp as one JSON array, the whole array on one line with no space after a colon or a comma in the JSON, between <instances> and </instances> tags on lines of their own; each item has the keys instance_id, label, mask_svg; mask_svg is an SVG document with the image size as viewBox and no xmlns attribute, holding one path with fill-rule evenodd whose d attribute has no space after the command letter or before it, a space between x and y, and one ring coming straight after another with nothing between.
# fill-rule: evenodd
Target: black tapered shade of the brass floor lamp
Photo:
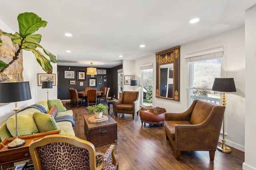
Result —
<instances>
[{"instance_id":1,"label":"black tapered shade of the brass floor lamp","mask_svg":"<svg viewBox=\"0 0 256 170\"><path fill-rule=\"evenodd\" d=\"M217 92L236 92L234 78L215 78L212 90Z\"/></svg>"}]
</instances>

